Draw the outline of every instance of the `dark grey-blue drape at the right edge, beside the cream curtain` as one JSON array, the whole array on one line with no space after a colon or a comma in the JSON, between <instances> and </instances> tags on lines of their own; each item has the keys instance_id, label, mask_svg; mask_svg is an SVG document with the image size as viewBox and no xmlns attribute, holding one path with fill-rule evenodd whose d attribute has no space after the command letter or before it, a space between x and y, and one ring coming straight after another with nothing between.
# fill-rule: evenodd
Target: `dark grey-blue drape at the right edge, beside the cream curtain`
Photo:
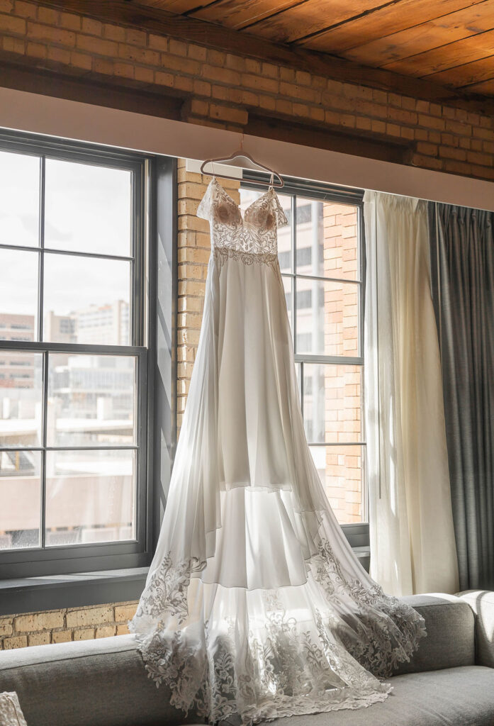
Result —
<instances>
[{"instance_id":1,"label":"dark grey-blue drape at the right edge, beside the cream curtain","mask_svg":"<svg viewBox=\"0 0 494 726\"><path fill-rule=\"evenodd\" d=\"M494 213L429 203L460 587L494 589Z\"/></svg>"}]
</instances>

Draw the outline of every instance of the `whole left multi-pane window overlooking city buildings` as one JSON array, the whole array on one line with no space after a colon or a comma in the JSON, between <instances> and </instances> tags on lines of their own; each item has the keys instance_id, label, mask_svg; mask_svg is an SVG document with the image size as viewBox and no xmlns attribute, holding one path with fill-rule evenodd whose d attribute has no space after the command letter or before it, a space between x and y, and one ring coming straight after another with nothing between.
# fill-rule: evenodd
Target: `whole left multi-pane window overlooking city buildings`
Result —
<instances>
[{"instance_id":1,"label":"whole left multi-pane window overlooking city buildings","mask_svg":"<svg viewBox=\"0 0 494 726\"><path fill-rule=\"evenodd\" d=\"M57 558L57 571L67 572L91 568L83 558L96 558L100 569L109 558L112 566L142 564L148 176L141 155L0 137L0 566L7 576L22 562L36 563L36 574L51 572Z\"/></svg>"}]
</instances>

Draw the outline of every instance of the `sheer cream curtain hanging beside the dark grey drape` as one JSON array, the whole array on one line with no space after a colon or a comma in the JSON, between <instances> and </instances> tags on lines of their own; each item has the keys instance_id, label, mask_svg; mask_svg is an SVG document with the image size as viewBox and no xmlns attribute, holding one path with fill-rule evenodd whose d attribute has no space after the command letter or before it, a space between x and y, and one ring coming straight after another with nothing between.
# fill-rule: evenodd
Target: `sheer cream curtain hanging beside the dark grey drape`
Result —
<instances>
[{"instance_id":1,"label":"sheer cream curtain hanging beside the dark grey drape","mask_svg":"<svg viewBox=\"0 0 494 726\"><path fill-rule=\"evenodd\" d=\"M427 203L366 192L371 576L393 595L456 592Z\"/></svg>"}]
</instances>

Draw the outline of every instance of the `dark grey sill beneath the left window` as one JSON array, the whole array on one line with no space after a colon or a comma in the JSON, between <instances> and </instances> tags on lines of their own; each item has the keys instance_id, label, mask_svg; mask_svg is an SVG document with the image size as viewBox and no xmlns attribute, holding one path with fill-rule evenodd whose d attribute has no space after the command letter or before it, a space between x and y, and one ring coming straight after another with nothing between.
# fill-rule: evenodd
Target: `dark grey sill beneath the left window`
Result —
<instances>
[{"instance_id":1,"label":"dark grey sill beneath the left window","mask_svg":"<svg viewBox=\"0 0 494 726\"><path fill-rule=\"evenodd\" d=\"M139 600L147 567L0 581L0 616Z\"/></svg>"}]
</instances>

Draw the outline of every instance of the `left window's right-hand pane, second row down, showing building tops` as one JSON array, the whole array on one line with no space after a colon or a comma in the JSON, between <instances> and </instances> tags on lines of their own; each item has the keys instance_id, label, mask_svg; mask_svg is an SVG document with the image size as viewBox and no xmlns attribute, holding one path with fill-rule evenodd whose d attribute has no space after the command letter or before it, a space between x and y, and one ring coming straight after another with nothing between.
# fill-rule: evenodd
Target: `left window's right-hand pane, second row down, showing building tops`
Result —
<instances>
[{"instance_id":1,"label":"left window's right-hand pane, second row down, showing building tops","mask_svg":"<svg viewBox=\"0 0 494 726\"><path fill-rule=\"evenodd\" d=\"M44 340L128 345L131 263L45 254Z\"/></svg>"}]
</instances>

